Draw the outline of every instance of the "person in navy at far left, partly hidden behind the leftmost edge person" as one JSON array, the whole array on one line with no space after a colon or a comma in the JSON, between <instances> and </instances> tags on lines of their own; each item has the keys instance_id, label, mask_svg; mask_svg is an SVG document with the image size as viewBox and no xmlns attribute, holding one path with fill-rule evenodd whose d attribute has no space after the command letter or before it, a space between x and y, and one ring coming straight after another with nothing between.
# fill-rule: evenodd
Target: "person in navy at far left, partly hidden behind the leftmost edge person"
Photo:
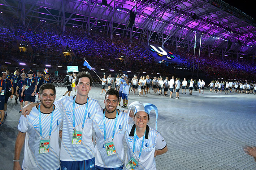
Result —
<instances>
[{"instance_id":1,"label":"person in navy at far left, partly hidden behind the leftmost edge person","mask_svg":"<svg viewBox=\"0 0 256 170\"><path fill-rule=\"evenodd\" d=\"M6 112L7 102L8 102L9 97L13 98L14 88L12 85L12 81L10 81L10 79L7 78L7 74L5 72L2 72L2 73L3 73L3 79L6 83L6 95L5 95L5 101L4 101L4 112L5 112L4 117L6 117L7 116L7 112Z\"/></svg>"}]
</instances>

